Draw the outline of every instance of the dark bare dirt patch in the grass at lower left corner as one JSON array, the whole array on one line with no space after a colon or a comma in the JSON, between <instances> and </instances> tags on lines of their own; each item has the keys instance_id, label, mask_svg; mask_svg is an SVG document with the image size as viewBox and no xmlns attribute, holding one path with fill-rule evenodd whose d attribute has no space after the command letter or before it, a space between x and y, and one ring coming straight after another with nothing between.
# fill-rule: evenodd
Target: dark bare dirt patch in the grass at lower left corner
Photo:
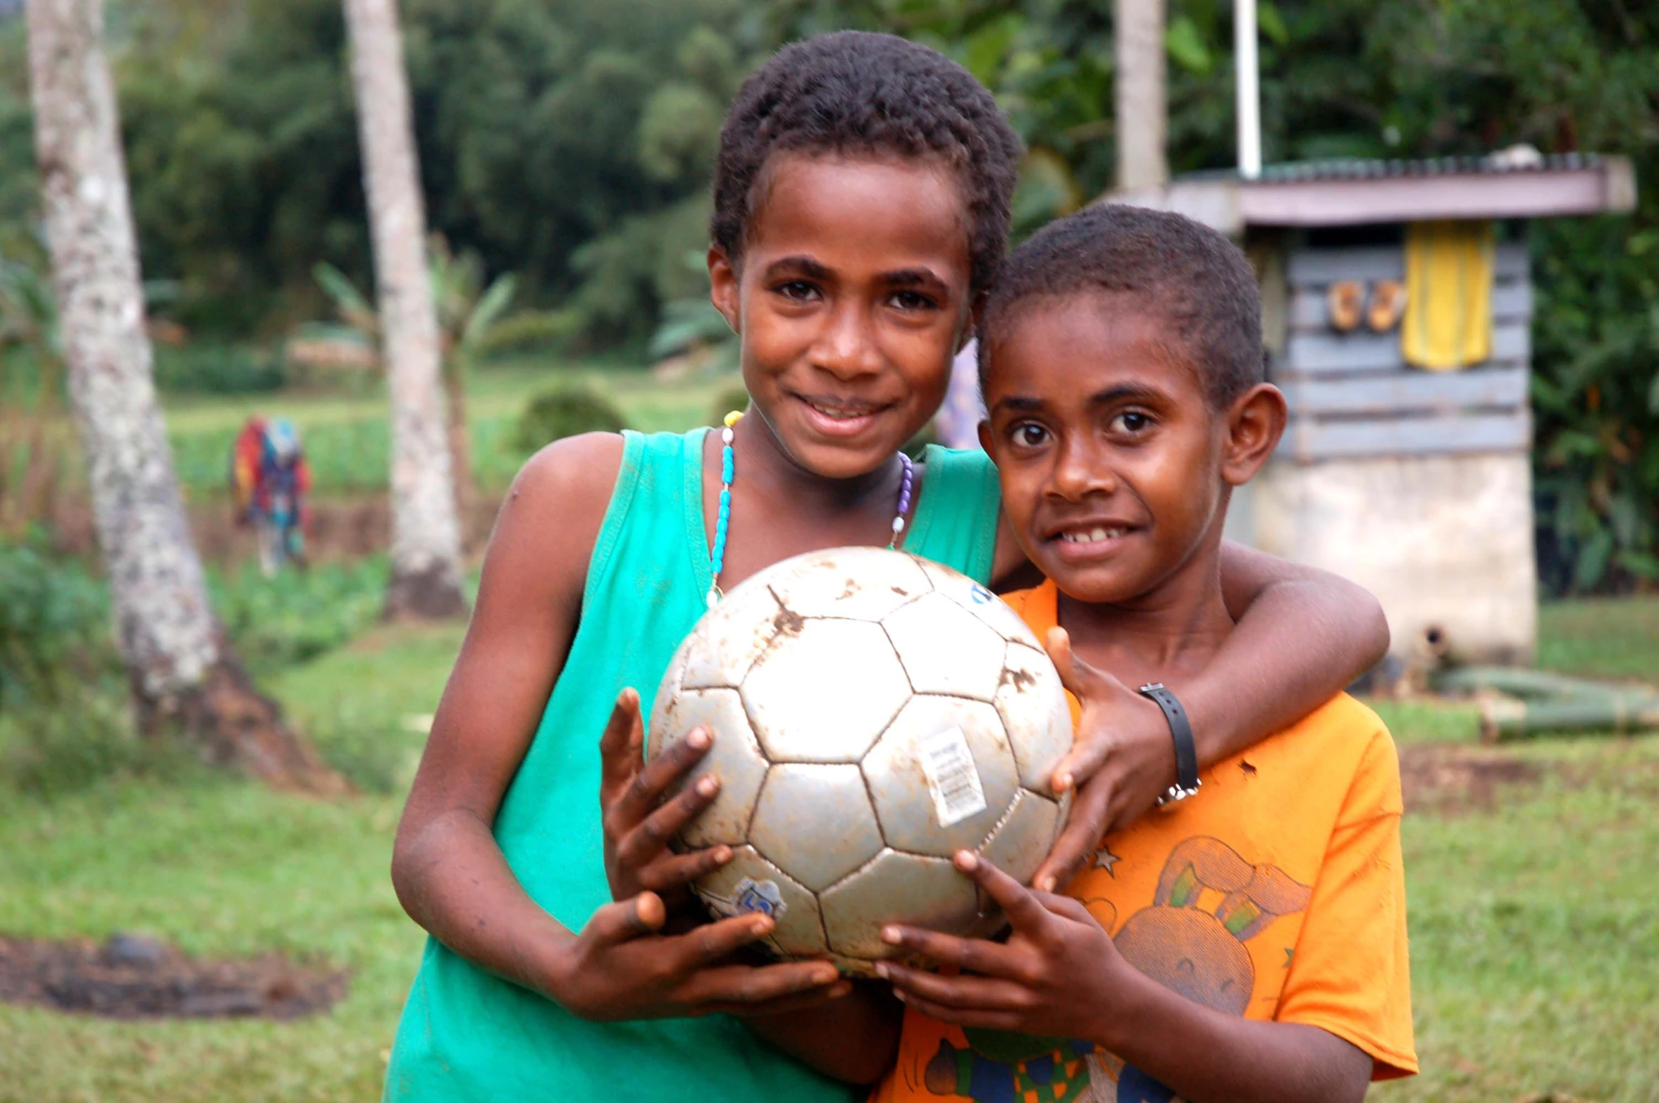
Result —
<instances>
[{"instance_id":1,"label":"dark bare dirt patch in the grass at lower left corner","mask_svg":"<svg viewBox=\"0 0 1659 1103\"><path fill-rule=\"evenodd\" d=\"M0 1000L106 1018L299 1018L345 995L342 969L277 954L194 960L156 939L0 935Z\"/></svg>"}]
</instances>

